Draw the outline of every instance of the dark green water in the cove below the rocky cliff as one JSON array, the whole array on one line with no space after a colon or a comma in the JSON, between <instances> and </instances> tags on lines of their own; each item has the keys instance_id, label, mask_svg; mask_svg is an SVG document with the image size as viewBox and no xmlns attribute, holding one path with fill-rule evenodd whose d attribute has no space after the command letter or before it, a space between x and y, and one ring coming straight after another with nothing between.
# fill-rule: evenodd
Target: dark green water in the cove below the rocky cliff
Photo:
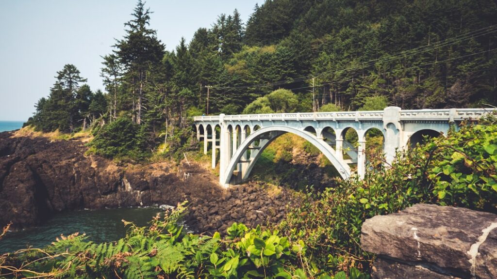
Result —
<instances>
[{"instance_id":1,"label":"dark green water in the cove below the rocky cliff","mask_svg":"<svg viewBox=\"0 0 497 279\"><path fill-rule=\"evenodd\" d=\"M122 219L145 226L159 208L122 208L78 210L55 215L42 226L29 230L9 232L0 240L0 255L26 248L45 247L61 234L86 233L93 242L109 242L125 236Z\"/></svg>"}]
</instances>

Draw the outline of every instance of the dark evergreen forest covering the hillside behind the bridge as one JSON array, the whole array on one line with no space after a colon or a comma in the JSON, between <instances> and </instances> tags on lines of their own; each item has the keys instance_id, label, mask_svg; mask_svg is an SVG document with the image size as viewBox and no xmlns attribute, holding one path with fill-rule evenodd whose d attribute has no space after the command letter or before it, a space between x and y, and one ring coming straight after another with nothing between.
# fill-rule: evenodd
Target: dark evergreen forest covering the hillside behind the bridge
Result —
<instances>
[{"instance_id":1,"label":"dark evergreen forest covering the hillside behind the bridge","mask_svg":"<svg viewBox=\"0 0 497 279\"><path fill-rule=\"evenodd\" d=\"M497 104L492 0L267 0L248 22L221 14L172 52L151 15L140 0L126 35L102 54L105 93L66 65L29 124L74 132L123 118L112 129L131 129L134 146L150 150L160 135L184 144L172 136L189 116L242 113L280 88L295 94L293 111Z\"/></svg>"}]
</instances>

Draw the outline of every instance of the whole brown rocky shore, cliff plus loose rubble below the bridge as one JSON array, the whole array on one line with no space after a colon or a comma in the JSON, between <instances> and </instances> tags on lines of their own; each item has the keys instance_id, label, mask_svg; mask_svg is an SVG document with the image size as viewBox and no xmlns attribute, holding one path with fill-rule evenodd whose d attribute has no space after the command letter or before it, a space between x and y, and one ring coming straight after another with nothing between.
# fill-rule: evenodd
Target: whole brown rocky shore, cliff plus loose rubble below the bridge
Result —
<instances>
[{"instance_id":1,"label":"whole brown rocky shore, cliff plus loose rubble below the bridge","mask_svg":"<svg viewBox=\"0 0 497 279\"><path fill-rule=\"evenodd\" d=\"M17 228L35 226L67 210L188 200L188 223L212 232L234 221L279 221L292 200L285 190L253 185L225 190L210 171L191 162L118 165L85 155L80 140L11 136L0 133L0 226L9 221Z\"/></svg>"}]
</instances>

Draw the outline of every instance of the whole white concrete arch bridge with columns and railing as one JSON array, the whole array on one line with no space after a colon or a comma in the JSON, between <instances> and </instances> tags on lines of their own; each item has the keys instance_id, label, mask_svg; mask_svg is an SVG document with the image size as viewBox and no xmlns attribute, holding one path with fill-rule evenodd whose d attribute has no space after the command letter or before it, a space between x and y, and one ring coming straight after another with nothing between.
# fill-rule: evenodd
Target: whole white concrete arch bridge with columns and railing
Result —
<instances>
[{"instance_id":1,"label":"whole white concrete arch bridge with columns and railing","mask_svg":"<svg viewBox=\"0 0 497 279\"><path fill-rule=\"evenodd\" d=\"M366 134L376 130L383 135L383 153L391 163L397 149L420 142L424 135L447 134L467 119L479 119L494 109L401 110L281 113L255 115L200 116L194 118L197 139L203 140L204 153L212 148L212 168L219 150L219 182L224 187L248 179L264 148L279 136L292 133L308 140L330 160L342 178L352 175L350 165L357 164L357 175L366 171ZM345 140L348 130L357 133L357 143ZM344 156L345 154L345 156Z\"/></svg>"}]
</instances>

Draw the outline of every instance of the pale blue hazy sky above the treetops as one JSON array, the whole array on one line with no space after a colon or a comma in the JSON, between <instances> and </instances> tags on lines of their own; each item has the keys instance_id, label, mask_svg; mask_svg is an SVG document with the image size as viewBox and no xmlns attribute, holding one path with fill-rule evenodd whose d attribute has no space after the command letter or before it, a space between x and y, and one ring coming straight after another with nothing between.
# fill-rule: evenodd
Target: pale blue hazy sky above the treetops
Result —
<instances>
[{"instance_id":1,"label":"pale blue hazy sky above the treetops","mask_svg":"<svg viewBox=\"0 0 497 279\"><path fill-rule=\"evenodd\" d=\"M54 76L74 64L92 90L104 89L100 56L124 35L135 0L0 0L0 120L26 121ZM237 8L244 22L264 0L147 0L150 26L173 50L199 27Z\"/></svg>"}]
</instances>

